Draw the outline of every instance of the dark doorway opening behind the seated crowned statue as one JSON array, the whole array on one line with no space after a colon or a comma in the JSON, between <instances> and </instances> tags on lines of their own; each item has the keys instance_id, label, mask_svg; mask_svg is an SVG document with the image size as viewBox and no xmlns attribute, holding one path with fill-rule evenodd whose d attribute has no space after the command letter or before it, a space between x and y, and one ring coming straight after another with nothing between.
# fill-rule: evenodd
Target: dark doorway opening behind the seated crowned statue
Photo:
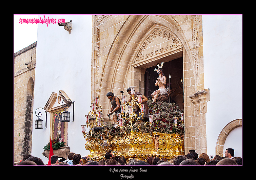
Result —
<instances>
[{"instance_id":1,"label":"dark doorway opening behind the seated crowned statue","mask_svg":"<svg viewBox=\"0 0 256 180\"><path fill-rule=\"evenodd\" d=\"M161 64L161 63L160 63ZM158 89L155 82L158 77L154 69L157 65L147 68L145 71L145 96L152 100L151 94ZM171 94L169 102L177 104L183 109L183 58L174 59L163 64L163 73L166 76L167 86L171 83ZM171 74L171 78L169 75ZM169 83L170 80L170 83Z\"/></svg>"}]
</instances>

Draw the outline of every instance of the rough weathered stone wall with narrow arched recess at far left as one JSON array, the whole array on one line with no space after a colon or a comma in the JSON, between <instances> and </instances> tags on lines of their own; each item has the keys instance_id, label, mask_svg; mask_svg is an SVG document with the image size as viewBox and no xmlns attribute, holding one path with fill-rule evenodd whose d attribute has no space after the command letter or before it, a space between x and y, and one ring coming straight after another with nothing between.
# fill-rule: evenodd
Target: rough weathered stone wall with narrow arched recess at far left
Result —
<instances>
[{"instance_id":1,"label":"rough weathered stone wall with narrow arched recess at far left","mask_svg":"<svg viewBox=\"0 0 256 180\"><path fill-rule=\"evenodd\" d=\"M14 54L14 160L32 150L36 42Z\"/></svg>"}]
</instances>

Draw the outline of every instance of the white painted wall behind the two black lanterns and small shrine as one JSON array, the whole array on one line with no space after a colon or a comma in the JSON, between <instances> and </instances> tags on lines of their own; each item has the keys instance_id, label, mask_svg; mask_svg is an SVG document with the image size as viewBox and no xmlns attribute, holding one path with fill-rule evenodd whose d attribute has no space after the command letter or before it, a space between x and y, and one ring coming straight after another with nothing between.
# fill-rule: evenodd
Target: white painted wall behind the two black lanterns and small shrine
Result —
<instances>
[{"instance_id":1,"label":"white painted wall behind the two black lanterns and small shrine","mask_svg":"<svg viewBox=\"0 0 256 180\"><path fill-rule=\"evenodd\" d=\"M39 15L43 17L43 15ZM35 110L44 107L52 92L59 96L63 90L75 101L74 122L68 122L67 144L70 151L81 156L90 152L84 148L81 125L85 124L85 114L90 111L91 104L91 59L92 59L92 15L45 15L49 18L72 20L71 34L58 24L38 24L36 74L34 89L34 115L32 155L40 157L43 162L48 159L42 155L43 147L50 140L50 113L47 114L45 129L45 113L43 129L34 129L37 119ZM68 109L73 113L73 105Z\"/></svg>"}]
</instances>

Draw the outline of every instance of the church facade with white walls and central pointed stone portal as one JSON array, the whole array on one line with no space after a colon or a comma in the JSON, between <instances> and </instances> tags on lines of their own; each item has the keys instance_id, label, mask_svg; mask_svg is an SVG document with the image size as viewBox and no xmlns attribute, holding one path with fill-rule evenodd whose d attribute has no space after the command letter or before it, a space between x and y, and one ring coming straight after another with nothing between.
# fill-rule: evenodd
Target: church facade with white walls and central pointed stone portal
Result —
<instances>
[{"instance_id":1,"label":"church facade with white walls and central pointed stone portal","mask_svg":"<svg viewBox=\"0 0 256 180\"><path fill-rule=\"evenodd\" d=\"M223 156L225 145L242 136L241 15L87 16L65 15L70 33L38 25L33 113L42 107L48 115L43 129L33 127L32 155L45 158L42 148L54 138L53 121L66 99L74 121L64 123L62 136L71 152L88 154L81 125L94 97L108 121L107 92L120 98L133 86L150 98L161 62L170 100L184 109L185 154Z\"/></svg>"}]
</instances>

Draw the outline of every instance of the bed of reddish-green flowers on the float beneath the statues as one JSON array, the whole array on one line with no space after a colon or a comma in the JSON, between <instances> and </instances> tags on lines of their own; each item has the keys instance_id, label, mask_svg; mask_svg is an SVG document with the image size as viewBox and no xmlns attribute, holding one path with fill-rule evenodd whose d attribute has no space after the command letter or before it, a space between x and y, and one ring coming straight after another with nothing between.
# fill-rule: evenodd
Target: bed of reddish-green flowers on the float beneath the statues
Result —
<instances>
[{"instance_id":1,"label":"bed of reddish-green flowers on the float beneath the statues","mask_svg":"<svg viewBox=\"0 0 256 180\"><path fill-rule=\"evenodd\" d=\"M153 103L151 99L147 101L148 107L149 107L149 113L150 115L154 115L153 123L150 128L149 123L140 121L136 122L136 119L134 120L133 124L133 131L139 132L139 128L142 133L165 133L165 134L180 134L181 136L184 136L184 125L180 126L177 124L177 126L174 125L173 117L180 117L180 113L183 113L183 110L179 108L174 103L166 103L166 102L156 102ZM128 115L129 116L129 115ZM110 133L113 136L116 137L123 137L124 132L126 130L127 134L130 134L131 127L127 126L127 124L130 125L129 120L125 120L123 122L125 128L122 129L118 127L113 127L111 122L105 123L105 127L108 130L107 132ZM102 139L102 134L106 135L105 129L97 132L93 132L92 138L93 139ZM106 136L105 136L106 137Z\"/></svg>"}]
</instances>

